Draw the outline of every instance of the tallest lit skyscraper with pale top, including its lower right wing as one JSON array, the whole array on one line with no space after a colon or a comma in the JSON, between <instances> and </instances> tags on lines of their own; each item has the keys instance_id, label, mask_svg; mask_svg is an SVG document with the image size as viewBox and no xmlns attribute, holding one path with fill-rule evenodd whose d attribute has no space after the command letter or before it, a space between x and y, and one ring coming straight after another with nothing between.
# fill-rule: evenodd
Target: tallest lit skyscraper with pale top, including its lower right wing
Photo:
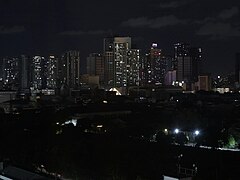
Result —
<instances>
[{"instance_id":1,"label":"tallest lit skyscraper with pale top, including its lower right wing","mask_svg":"<svg viewBox=\"0 0 240 180\"><path fill-rule=\"evenodd\" d=\"M127 88L139 85L140 50L131 48L130 37L104 39L105 84Z\"/></svg>"}]
</instances>

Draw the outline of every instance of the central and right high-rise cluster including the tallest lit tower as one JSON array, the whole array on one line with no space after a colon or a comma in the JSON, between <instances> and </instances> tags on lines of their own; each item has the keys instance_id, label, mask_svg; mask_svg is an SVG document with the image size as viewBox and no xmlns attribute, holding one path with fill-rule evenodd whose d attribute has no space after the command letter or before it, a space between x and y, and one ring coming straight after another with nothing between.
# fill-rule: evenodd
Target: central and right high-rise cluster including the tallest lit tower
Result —
<instances>
[{"instance_id":1,"label":"central and right high-rise cluster including the tallest lit tower","mask_svg":"<svg viewBox=\"0 0 240 180\"><path fill-rule=\"evenodd\" d=\"M181 85L196 90L201 48L186 43L177 43L174 48L174 56L169 56L156 43L142 51L132 46L130 37L105 38L103 53L87 58L87 73L99 75L104 87L115 87L123 93L132 86Z\"/></svg>"}]
</instances>

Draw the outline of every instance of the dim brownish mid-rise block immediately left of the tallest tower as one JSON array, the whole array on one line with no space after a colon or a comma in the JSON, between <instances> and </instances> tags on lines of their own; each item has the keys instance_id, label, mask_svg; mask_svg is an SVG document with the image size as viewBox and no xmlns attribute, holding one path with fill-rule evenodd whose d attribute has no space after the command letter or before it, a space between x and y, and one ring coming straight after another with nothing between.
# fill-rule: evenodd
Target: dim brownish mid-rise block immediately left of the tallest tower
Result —
<instances>
[{"instance_id":1,"label":"dim brownish mid-rise block immediately left of the tallest tower","mask_svg":"<svg viewBox=\"0 0 240 180\"><path fill-rule=\"evenodd\" d=\"M100 85L104 84L104 57L99 53L91 53L87 57L87 74L99 76Z\"/></svg>"}]
</instances>

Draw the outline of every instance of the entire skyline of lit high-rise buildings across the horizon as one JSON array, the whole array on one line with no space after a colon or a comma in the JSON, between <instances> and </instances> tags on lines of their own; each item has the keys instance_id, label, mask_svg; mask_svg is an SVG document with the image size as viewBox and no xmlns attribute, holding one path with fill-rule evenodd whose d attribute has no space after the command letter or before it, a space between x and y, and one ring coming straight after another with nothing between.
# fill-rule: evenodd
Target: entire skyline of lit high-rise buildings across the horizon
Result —
<instances>
[{"instance_id":1,"label":"entire skyline of lit high-rise buildings across the horizon","mask_svg":"<svg viewBox=\"0 0 240 180\"><path fill-rule=\"evenodd\" d=\"M185 90L209 90L209 76L201 74L202 49L186 43L174 45L166 55L156 43L147 51L132 45L131 37L103 41L103 52L87 57L82 73L79 51L62 56L4 57L0 64L0 90L58 94L86 85L117 89L128 94L130 87L181 86Z\"/></svg>"}]
</instances>

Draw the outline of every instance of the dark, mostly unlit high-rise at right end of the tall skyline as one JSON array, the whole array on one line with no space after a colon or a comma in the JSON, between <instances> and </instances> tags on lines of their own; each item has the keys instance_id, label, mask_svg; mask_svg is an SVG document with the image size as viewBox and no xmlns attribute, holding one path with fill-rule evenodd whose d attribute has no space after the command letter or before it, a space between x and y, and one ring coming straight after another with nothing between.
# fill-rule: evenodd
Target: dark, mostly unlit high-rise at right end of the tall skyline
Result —
<instances>
[{"instance_id":1,"label":"dark, mostly unlit high-rise at right end of the tall skyline","mask_svg":"<svg viewBox=\"0 0 240 180\"><path fill-rule=\"evenodd\" d=\"M177 62L177 81L184 83L191 90L192 83L198 81L201 63L201 48L190 47L189 44L175 44L175 61Z\"/></svg>"}]
</instances>

